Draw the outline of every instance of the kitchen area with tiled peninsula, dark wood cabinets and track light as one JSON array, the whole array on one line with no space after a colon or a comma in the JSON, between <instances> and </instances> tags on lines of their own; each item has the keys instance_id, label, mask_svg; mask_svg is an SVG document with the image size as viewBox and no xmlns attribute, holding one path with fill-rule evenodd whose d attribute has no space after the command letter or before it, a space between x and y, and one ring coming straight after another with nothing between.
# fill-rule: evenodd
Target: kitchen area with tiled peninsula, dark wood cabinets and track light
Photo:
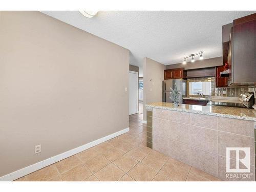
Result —
<instances>
[{"instance_id":1,"label":"kitchen area with tiled peninsula, dark wood cabinets and track light","mask_svg":"<svg viewBox=\"0 0 256 192\"><path fill-rule=\"evenodd\" d=\"M148 147L221 180L255 181L255 26L256 14L222 26L223 57L202 60L199 51L166 66L163 102L145 105ZM175 88L178 106L170 99ZM229 177L228 147L250 147L250 178Z\"/></svg>"}]
</instances>

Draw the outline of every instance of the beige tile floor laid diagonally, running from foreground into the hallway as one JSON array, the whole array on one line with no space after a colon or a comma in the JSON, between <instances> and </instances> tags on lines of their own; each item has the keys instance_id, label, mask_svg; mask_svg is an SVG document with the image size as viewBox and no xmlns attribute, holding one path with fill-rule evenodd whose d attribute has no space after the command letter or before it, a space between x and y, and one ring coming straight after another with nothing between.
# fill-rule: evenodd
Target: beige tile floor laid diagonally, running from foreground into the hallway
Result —
<instances>
[{"instance_id":1,"label":"beige tile floor laid diagonally, running from foreground into the hallway","mask_svg":"<svg viewBox=\"0 0 256 192\"><path fill-rule=\"evenodd\" d=\"M145 146L142 114L130 132L37 170L16 181L219 181Z\"/></svg>"}]
</instances>

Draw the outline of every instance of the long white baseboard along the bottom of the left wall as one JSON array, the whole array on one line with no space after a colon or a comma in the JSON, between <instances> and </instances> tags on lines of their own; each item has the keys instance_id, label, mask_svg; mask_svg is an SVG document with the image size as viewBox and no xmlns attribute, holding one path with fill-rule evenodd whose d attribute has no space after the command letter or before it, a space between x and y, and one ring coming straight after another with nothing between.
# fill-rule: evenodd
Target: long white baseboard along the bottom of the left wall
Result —
<instances>
[{"instance_id":1,"label":"long white baseboard along the bottom of the left wall","mask_svg":"<svg viewBox=\"0 0 256 192\"><path fill-rule=\"evenodd\" d=\"M126 129L123 129L123 130L121 130L119 132L110 134L108 136L102 137L102 138L97 139L95 141L92 141L90 143L87 143L87 144L84 144L82 146L73 148L73 150L61 153L61 154L56 155L54 157L51 157L49 159L40 161L40 162L32 164L32 165L29 165L29 166L27 166L25 168L22 168L22 169L16 170L15 172L12 172L10 174L7 174L5 176L0 177L0 181L13 181L13 180L18 179L20 177L28 175L28 174L30 174L32 172L35 172L36 170L44 168L44 167L46 167L48 165L51 165L53 163L56 163L56 162L58 162L58 161L60 161L62 159L68 158L68 157L70 157L72 155L75 155L75 154L80 153L80 152L82 152L84 150L87 150L88 148L93 147L93 146L95 146L97 144L103 143L103 142L105 142L107 140L110 140L110 139L112 139L114 137L117 137L117 136L119 136L121 134L129 132L129 130L130 130L130 128L127 127Z\"/></svg>"}]
</instances>

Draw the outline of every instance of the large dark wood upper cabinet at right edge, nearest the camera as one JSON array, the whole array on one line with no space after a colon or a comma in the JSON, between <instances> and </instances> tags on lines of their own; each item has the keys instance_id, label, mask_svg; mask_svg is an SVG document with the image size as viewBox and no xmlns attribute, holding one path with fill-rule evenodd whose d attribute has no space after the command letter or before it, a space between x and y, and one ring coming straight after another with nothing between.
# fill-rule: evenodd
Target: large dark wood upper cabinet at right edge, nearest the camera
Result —
<instances>
[{"instance_id":1,"label":"large dark wood upper cabinet at right edge, nearest the camera","mask_svg":"<svg viewBox=\"0 0 256 192\"><path fill-rule=\"evenodd\" d=\"M233 24L231 83L256 82L256 13Z\"/></svg>"}]
</instances>

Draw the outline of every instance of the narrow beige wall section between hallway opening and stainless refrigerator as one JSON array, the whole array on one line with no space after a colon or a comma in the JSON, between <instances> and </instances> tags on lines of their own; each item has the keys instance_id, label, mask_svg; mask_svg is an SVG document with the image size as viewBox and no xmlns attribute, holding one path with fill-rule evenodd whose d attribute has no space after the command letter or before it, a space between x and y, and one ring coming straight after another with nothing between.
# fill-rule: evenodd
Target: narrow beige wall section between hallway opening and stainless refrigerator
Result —
<instances>
[{"instance_id":1,"label":"narrow beige wall section between hallway opening and stainless refrigerator","mask_svg":"<svg viewBox=\"0 0 256 192\"><path fill-rule=\"evenodd\" d=\"M143 120L146 120L145 104L162 101L162 83L165 66L150 58L143 59Z\"/></svg>"}]
</instances>

